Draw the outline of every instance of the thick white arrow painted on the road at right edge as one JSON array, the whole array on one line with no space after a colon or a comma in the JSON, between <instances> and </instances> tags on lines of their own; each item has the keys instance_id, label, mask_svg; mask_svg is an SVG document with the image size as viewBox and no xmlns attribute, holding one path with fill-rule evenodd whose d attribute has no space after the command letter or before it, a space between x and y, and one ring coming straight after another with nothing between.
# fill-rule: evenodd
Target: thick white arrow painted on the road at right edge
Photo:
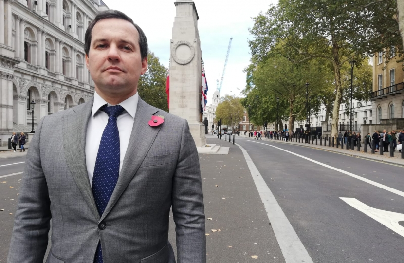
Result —
<instances>
[{"instance_id":1,"label":"thick white arrow painted on the road at right edge","mask_svg":"<svg viewBox=\"0 0 404 263\"><path fill-rule=\"evenodd\" d=\"M404 227L398 223L399 221L404 221L404 214L369 207L356 198L340 197L340 199L404 237Z\"/></svg>"}]
</instances>

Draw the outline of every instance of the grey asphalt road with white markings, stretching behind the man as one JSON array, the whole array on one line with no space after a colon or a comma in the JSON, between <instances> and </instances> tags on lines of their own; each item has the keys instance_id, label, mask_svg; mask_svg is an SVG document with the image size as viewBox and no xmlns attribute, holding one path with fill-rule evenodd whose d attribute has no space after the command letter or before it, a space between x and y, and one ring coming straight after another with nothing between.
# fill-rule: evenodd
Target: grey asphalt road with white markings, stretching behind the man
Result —
<instances>
[{"instance_id":1,"label":"grey asphalt road with white markings, stretching behind the man","mask_svg":"<svg viewBox=\"0 0 404 263\"><path fill-rule=\"evenodd\" d=\"M208 143L230 147L228 155L199 155L205 213L212 218L206 220L208 262L293 263L282 254L287 235L277 234L279 225L270 221L279 211L264 207L241 149L214 136ZM262 187L272 192L312 262L404 262L403 167L265 139L236 136L236 143L251 157ZM23 170L23 163L2 166L25 160L13 156L0 156L0 176ZM0 262L6 261L21 179L22 174L0 178L7 182L0 184ZM175 247L172 219L169 239Z\"/></svg>"}]
</instances>

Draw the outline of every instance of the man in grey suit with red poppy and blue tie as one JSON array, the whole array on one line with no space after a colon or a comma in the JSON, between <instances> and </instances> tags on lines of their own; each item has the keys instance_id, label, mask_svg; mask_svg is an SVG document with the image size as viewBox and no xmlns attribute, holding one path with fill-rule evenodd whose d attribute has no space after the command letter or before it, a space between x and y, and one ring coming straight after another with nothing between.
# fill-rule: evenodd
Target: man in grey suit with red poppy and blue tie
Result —
<instances>
[{"instance_id":1,"label":"man in grey suit with red poppy and blue tie","mask_svg":"<svg viewBox=\"0 0 404 263\"><path fill-rule=\"evenodd\" d=\"M137 94L147 39L108 10L85 35L94 98L41 119L27 154L9 263L205 263L199 159L188 123ZM160 116L160 117L158 117ZM163 119L164 118L164 119Z\"/></svg>"}]
</instances>

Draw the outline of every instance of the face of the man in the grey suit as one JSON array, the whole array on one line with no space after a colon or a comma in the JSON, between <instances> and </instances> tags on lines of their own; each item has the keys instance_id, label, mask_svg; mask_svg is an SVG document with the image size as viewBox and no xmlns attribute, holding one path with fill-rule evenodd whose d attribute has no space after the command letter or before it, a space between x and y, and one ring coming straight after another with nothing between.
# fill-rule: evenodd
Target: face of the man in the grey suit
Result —
<instances>
[{"instance_id":1,"label":"face of the man in the grey suit","mask_svg":"<svg viewBox=\"0 0 404 263\"><path fill-rule=\"evenodd\" d=\"M142 61L138 40L136 28L123 19L95 24L86 65L97 91L111 97L136 93L139 77L147 70L147 57Z\"/></svg>"}]
</instances>

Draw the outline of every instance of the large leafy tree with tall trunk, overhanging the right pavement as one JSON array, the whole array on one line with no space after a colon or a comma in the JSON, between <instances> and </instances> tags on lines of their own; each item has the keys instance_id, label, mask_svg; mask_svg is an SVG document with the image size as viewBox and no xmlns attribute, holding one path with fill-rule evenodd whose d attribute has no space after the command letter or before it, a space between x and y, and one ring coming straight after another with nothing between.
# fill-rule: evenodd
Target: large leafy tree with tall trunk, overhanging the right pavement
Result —
<instances>
[{"instance_id":1,"label":"large leafy tree with tall trunk, overhanging the right pavement","mask_svg":"<svg viewBox=\"0 0 404 263\"><path fill-rule=\"evenodd\" d=\"M250 48L259 60L276 53L294 63L313 58L331 63L335 85L331 123L334 137L344 89L344 64L398 44L399 30L393 19L395 0L369 3L370 0L279 0L266 14L254 18L250 30L254 36Z\"/></svg>"}]
</instances>

